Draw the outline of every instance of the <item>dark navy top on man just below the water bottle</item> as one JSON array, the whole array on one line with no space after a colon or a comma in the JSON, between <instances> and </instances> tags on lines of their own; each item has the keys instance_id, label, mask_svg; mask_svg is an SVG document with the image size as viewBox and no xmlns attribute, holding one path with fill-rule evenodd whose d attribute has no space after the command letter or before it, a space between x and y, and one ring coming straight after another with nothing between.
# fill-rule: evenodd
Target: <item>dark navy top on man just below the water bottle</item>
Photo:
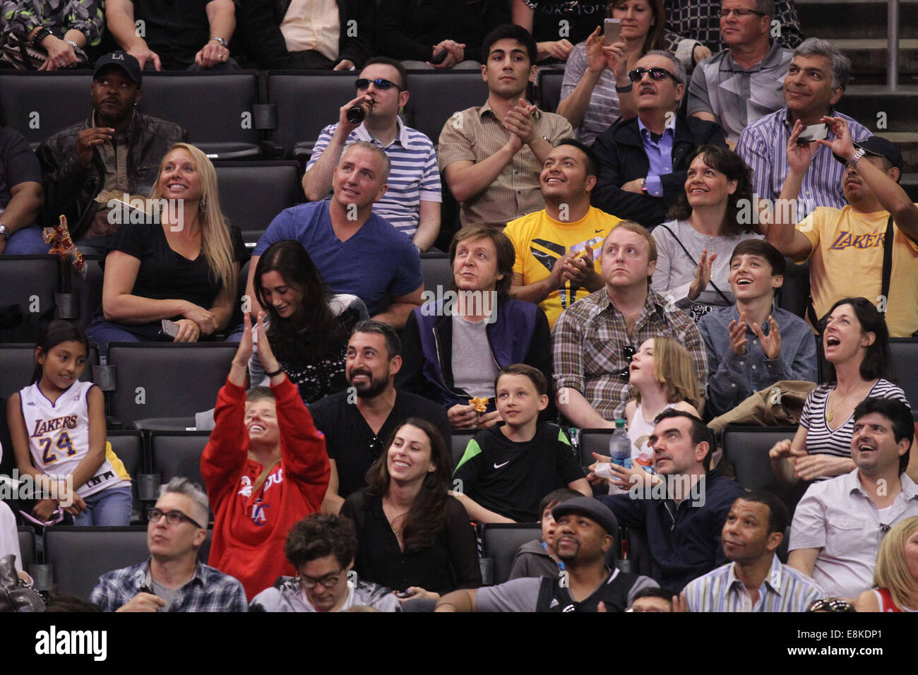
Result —
<instances>
[{"instance_id":1,"label":"dark navy top on man just below the water bottle","mask_svg":"<svg viewBox=\"0 0 918 675\"><path fill-rule=\"evenodd\" d=\"M721 546L721 530L737 497L745 494L735 481L716 470L705 477L704 499L678 504L669 499L632 499L628 493L602 495L623 527L644 530L650 549L651 574L660 587L677 593L689 581L729 562Z\"/></svg>"}]
</instances>

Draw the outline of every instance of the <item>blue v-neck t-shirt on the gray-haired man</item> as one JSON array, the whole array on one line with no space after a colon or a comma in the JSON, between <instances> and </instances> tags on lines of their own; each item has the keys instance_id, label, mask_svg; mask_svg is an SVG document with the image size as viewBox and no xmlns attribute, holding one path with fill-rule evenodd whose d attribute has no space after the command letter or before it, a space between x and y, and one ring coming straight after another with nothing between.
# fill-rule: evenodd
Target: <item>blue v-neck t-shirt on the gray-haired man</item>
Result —
<instances>
[{"instance_id":1,"label":"blue v-neck t-shirt on the gray-haired man","mask_svg":"<svg viewBox=\"0 0 918 675\"><path fill-rule=\"evenodd\" d=\"M379 216L371 215L349 240L341 242L331 227L329 200L285 208L258 240L253 255L274 242L300 242L335 293L350 293L364 301L370 316L380 300L404 296L420 287L420 257L408 237Z\"/></svg>"}]
</instances>

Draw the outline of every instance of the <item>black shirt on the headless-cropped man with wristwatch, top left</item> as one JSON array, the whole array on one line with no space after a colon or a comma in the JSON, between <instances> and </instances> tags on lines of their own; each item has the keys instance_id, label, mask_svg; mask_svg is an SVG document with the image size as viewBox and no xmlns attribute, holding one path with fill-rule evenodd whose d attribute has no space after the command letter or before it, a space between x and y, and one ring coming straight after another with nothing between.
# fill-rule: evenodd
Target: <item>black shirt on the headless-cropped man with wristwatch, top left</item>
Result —
<instances>
[{"instance_id":1,"label":"black shirt on the headless-cropped man with wristwatch, top left","mask_svg":"<svg viewBox=\"0 0 918 675\"><path fill-rule=\"evenodd\" d=\"M131 0L134 21L143 21L143 39L160 56L166 70L181 70L210 39L207 3L210 0Z\"/></svg>"}]
</instances>

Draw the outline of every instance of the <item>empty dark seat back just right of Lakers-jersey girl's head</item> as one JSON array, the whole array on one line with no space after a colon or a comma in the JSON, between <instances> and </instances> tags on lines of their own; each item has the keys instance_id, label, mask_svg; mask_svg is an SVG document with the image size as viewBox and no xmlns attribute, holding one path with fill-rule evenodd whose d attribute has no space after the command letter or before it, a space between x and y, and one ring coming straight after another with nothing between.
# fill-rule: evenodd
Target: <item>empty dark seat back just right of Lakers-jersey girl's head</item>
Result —
<instances>
[{"instance_id":1,"label":"empty dark seat back just right of Lakers-jersey girl's head","mask_svg":"<svg viewBox=\"0 0 918 675\"><path fill-rule=\"evenodd\" d=\"M214 407L234 343L110 343L116 389L108 414L126 427L151 417L187 417Z\"/></svg>"}]
</instances>

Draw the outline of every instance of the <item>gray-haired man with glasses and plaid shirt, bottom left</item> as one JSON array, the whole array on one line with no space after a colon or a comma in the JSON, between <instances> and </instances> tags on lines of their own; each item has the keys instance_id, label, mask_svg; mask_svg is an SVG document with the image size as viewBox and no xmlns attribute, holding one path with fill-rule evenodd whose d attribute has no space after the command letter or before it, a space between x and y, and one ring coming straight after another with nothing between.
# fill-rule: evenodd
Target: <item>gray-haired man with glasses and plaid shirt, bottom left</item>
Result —
<instances>
[{"instance_id":1,"label":"gray-haired man with glasses and plaid shirt, bottom left","mask_svg":"<svg viewBox=\"0 0 918 675\"><path fill-rule=\"evenodd\" d=\"M103 574L90 602L104 612L248 612L242 584L197 559L209 515L204 490L170 480L149 513L150 557Z\"/></svg>"}]
</instances>

